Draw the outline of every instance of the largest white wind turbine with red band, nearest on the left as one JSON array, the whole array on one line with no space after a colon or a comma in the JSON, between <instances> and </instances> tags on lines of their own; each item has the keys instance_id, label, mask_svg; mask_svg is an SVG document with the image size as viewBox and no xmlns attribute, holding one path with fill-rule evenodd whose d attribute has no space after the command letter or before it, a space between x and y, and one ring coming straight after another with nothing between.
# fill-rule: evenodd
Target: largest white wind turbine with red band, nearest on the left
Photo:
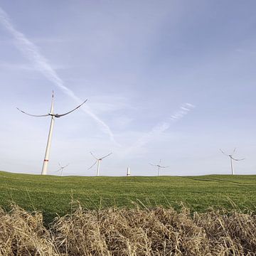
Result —
<instances>
[{"instance_id":1,"label":"largest white wind turbine with red band, nearest on the left","mask_svg":"<svg viewBox=\"0 0 256 256\"><path fill-rule=\"evenodd\" d=\"M52 96L52 101L51 101L51 105L50 105L50 112L48 114L41 114L41 115L28 114L28 113L24 112L23 110L18 109L18 107L17 107L17 110L23 112L24 114L28 114L31 117L48 117L48 116L51 117L50 118L50 131L49 131L49 134L48 134L48 140L47 140L47 145L46 145L46 154L45 154L45 158L43 160L43 169L42 169L42 172L41 172L42 175L46 175L47 174L48 162L49 162L49 154L50 154L50 143L51 143L51 139L52 139L52 136L53 136L54 118L55 117L57 117L57 118L58 117L63 117L66 114L70 114L71 112L77 110L79 107L81 107L83 104L85 104L85 102L87 102L87 100L85 100L78 107L75 107L75 109L70 110L69 112L66 112L64 114L54 114L54 112L53 112L53 100L54 100L54 98Z\"/></svg>"}]
</instances>

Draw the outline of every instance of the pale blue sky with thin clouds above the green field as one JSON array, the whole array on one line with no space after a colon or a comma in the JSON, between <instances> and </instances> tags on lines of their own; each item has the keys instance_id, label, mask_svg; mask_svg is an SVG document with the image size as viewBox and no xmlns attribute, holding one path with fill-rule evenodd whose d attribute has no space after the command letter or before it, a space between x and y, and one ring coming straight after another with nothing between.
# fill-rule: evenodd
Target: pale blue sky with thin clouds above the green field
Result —
<instances>
[{"instance_id":1,"label":"pale blue sky with thin clouds above the green field","mask_svg":"<svg viewBox=\"0 0 256 256\"><path fill-rule=\"evenodd\" d=\"M255 1L0 0L0 170L256 174Z\"/></svg>"}]
</instances>

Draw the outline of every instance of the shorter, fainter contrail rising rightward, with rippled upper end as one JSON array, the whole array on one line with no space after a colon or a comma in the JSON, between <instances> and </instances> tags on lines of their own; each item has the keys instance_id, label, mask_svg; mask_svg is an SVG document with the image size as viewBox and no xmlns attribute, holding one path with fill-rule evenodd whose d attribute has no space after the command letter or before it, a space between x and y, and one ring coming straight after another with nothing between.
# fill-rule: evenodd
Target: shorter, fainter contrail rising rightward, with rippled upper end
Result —
<instances>
[{"instance_id":1,"label":"shorter, fainter contrail rising rightward, with rippled upper end","mask_svg":"<svg viewBox=\"0 0 256 256\"><path fill-rule=\"evenodd\" d=\"M125 150L124 155L127 155L130 152L135 151L136 149L139 149L140 147L148 143L151 139L166 131L166 129L169 129L169 127L171 126L171 122L176 122L178 121L178 119L183 118L194 107L195 106L190 103L185 103L181 105L181 107L179 107L179 109L174 114L172 114L166 122L161 122L157 124L155 127L153 127L153 129L151 129L150 132L144 134L133 146Z\"/></svg>"}]
</instances>

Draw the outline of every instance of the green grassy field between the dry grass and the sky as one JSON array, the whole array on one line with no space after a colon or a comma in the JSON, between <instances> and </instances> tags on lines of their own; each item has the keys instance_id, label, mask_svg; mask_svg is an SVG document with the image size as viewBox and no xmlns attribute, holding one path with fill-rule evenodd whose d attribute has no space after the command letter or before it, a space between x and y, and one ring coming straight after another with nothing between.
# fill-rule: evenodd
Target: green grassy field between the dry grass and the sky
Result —
<instances>
[{"instance_id":1,"label":"green grassy field between the dry grass and the sky","mask_svg":"<svg viewBox=\"0 0 256 256\"><path fill-rule=\"evenodd\" d=\"M203 212L213 206L256 212L256 176L84 177L11 174L0 171L0 206L15 202L40 210L49 223L71 212L71 201L83 208L183 205ZM143 206L144 205L144 206Z\"/></svg>"}]
</instances>

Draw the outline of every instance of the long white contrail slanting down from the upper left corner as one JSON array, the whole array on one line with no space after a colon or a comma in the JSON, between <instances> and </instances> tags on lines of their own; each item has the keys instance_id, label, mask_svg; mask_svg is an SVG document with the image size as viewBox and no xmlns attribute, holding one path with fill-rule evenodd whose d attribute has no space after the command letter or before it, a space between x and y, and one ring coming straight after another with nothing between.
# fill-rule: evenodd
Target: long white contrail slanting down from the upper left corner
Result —
<instances>
[{"instance_id":1,"label":"long white contrail slanting down from the upper left corner","mask_svg":"<svg viewBox=\"0 0 256 256\"><path fill-rule=\"evenodd\" d=\"M26 36L17 31L16 28L14 28L11 19L9 18L8 14L1 9L0 7L0 22L6 28L7 31L11 34L11 36L14 37L15 41L14 43L16 44L16 47L18 50L21 50L23 55L26 56L36 67L38 70L43 73L43 75L50 81L53 82L54 85L56 85L60 90L62 90L66 95L70 96L73 98L73 100L77 102L81 102L80 98L75 95L75 93L70 90L68 87L64 85L63 80L58 76L58 74L55 72L55 70L51 67L50 63L48 60L40 53L39 49L37 46L32 43ZM96 114L94 114L89 107L85 106L82 107L82 110L89 114L92 119L94 119L97 124L100 125L102 128L102 131L105 132L110 136L113 142L114 140L114 134L112 133L110 127L105 124L99 117L97 117ZM117 143L117 142L115 142Z\"/></svg>"}]
</instances>

